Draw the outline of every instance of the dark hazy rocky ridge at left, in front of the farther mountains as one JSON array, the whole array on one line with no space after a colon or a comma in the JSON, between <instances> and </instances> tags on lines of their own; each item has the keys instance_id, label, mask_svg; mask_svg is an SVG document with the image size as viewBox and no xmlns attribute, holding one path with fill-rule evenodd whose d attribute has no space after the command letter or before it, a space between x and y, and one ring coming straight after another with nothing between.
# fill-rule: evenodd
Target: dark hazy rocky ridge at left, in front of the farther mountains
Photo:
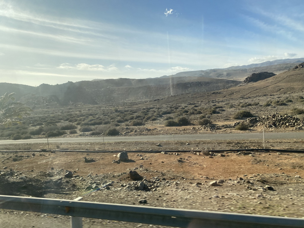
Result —
<instances>
[{"instance_id":1,"label":"dark hazy rocky ridge at left, in front of the farther mountains","mask_svg":"<svg viewBox=\"0 0 304 228\"><path fill-rule=\"evenodd\" d=\"M238 84L240 81L204 77L119 78L75 83L69 81L60 85L42 84L37 87L0 83L0 95L15 92L17 100L38 109L158 99L185 93L211 92Z\"/></svg>"}]
</instances>

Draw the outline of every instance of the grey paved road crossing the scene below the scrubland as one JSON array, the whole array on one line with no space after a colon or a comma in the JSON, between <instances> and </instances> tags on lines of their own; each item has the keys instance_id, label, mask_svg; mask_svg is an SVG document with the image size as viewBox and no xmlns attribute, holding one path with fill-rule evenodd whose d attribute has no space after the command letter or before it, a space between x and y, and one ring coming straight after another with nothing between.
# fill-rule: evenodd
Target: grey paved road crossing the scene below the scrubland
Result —
<instances>
[{"instance_id":1,"label":"grey paved road crossing the scene below the scrubland","mask_svg":"<svg viewBox=\"0 0 304 228\"><path fill-rule=\"evenodd\" d=\"M263 133L237 134L195 134L174 135L174 140L237 140L263 139ZM304 132L265 133L265 139L304 139ZM79 143L79 142L130 142L130 141L170 141L173 135L156 136L117 136L117 137L79 137L79 138L49 138L50 143ZM47 139L0 140L0 144L13 143L46 143Z\"/></svg>"}]
</instances>

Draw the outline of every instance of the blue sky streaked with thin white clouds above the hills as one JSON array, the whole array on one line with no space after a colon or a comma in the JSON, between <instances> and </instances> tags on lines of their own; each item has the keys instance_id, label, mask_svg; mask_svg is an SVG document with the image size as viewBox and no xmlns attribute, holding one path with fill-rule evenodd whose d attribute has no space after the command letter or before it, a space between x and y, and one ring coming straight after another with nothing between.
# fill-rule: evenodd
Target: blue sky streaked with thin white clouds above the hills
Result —
<instances>
[{"instance_id":1,"label":"blue sky streaked with thin white clouds above the hills","mask_svg":"<svg viewBox=\"0 0 304 228\"><path fill-rule=\"evenodd\" d=\"M0 0L0 82L31 86L304 57L304 1Z\"/></svg>"}]
</instances>

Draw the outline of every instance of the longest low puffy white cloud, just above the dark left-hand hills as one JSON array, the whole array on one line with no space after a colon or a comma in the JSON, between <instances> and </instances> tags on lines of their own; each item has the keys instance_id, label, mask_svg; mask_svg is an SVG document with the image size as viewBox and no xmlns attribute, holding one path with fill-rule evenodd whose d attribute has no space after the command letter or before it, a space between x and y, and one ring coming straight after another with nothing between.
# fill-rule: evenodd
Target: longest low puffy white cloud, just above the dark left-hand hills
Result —
<instances>
[{"instance_id":1,"label":"longest low puffy white cloud, just above the dark left-hand hills","mask_svg":"<svg viewBox=\"0 0 304 228\"><path fill-rule=\"evenodd\" d=\"M100 64L85 64L85 63L79 63L79 64L68 64L68 63L63 63L60 64L58 69L73 69L73 70L80 70L80 71L118 71L118 68L115 66L115 64L111 64L108 67L105 67Z\"/></svg>"}]
</instances>

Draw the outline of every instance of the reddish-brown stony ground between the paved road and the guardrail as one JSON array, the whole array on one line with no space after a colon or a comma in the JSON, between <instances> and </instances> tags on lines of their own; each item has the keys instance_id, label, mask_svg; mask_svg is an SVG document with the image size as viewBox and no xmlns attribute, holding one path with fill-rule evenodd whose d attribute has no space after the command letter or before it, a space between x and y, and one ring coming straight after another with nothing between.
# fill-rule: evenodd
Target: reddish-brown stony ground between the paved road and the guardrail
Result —
<instances>
[{"instance_id":1,"label":"reddish-brown stony ground between the paved road and the guardrail","mask_svg":"<svg viewBox=\"0 0 304 228\"><path fill-rule=\"evenodd\" d=\"M156 146L158 143L162 147ZM303 143L304 140L300 139L269 140L266 148L304 150ZM50 146L69 150L102 147L97 143ZM172 150L172 142L106 143L105 147L110 150L139 150L129 152L128 160L115 162L119 160L117 152L2 151L0 193L56 199L81 196L82 200L92 202L303 217L304 154L266 151L206 153L210 149L262 148L261 142L254 140L178 141L174 146L189 152L140 152L151 148ZM23 147L36 150L45 144ZM20 145L11 145L10 149L20 149ZM191 150L202 152L197 154ZM84 157L89 162L85 162ZM132 180L130 171L136 171L142 178ZM49 218L49 221L55 217L64 224L69 219L66 216L1 210L2 216L19 214L23 214L22 218L26 214L29 219L35 216ZM84 227L151 227L97 219L84 221Z\"/></svg>"}]
</instances>

